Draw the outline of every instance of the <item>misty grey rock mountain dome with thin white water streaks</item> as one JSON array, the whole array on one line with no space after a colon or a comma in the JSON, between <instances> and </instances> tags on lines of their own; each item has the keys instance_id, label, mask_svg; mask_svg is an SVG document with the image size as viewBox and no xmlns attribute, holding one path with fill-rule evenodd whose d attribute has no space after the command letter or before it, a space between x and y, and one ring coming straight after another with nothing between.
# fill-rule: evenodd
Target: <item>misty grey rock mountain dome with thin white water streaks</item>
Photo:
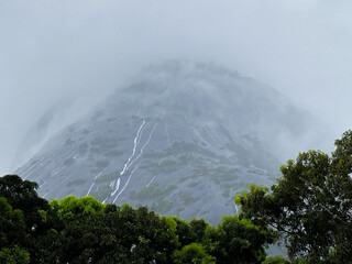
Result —
<instances>
[{"instance_id":1,"label":"misty grey rock mountain dome with thin white water streaks","mask_svg":"<svg viewBox=\"0 0 352 264\"><path fill-rule=\"evenodd\" d=\"M276 90L213 63L151 65L16 169L46 199L91 195L162 215L233 215L250 183L271 185L283 139L306 112Z\"/></svg>"}]
</instances>

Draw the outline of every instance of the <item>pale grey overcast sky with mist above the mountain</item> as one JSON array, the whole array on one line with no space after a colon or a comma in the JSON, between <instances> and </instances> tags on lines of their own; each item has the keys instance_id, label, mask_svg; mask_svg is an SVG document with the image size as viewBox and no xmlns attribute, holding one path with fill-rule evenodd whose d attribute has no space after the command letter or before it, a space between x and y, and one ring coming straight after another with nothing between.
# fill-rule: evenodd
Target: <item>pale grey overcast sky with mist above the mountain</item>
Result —
<instances>
[{"instance_id":1,"label":"pale grey overcast sky with mist above the mountain","mask_svg":"<svg viewBox=\"0 0 352 264\"><path fill-rule=\"evenodd\" d=\"M3 0L0 175L52 106L67 102L74 117L170 58L213 61L265 82L328 122L334 138L352 127L349 0Z\"/></svg>"}]
</instances>

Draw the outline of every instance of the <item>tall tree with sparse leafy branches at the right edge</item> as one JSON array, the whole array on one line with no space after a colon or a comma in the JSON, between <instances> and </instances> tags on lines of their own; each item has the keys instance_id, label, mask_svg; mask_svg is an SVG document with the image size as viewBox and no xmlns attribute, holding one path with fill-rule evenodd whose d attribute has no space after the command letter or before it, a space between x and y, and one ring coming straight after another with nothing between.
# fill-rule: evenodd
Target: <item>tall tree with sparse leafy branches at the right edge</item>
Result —
<instances>
[{"instance_id":1,"label":"tall tree with sparse leafy branches at the right edge","mask_svg":"<svg viewBox=\"0 0 352 264\"><path fill-rule=\"evenodd\" d=\"M240 218L271 226L294 261L352 263L352 131L336 147L331 156L299 153L271 189L251 186L235 198Z\"/></svg>"}]
</instances>

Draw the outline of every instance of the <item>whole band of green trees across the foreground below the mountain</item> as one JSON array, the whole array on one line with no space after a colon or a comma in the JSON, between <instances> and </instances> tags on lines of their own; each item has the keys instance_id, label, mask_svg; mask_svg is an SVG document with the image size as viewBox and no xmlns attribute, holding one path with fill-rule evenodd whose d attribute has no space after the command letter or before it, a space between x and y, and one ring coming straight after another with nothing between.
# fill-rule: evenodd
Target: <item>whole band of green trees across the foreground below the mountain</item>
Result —
<instances>
[{"instance_id":1,"label":"whole band of green trees across the foreground below the mountain","mask_svg":"<svg viewBox=\"0 0 352 264\"><path fill-rule=\"evenodd\" d=\"M331 156L309 151L271 188L235 197L217 227L94 197L47 200L37 184L0 177L0 263L352 263L352 131ZM289 261L266 257L283 241Z\"/></svg>"}]
</instances>

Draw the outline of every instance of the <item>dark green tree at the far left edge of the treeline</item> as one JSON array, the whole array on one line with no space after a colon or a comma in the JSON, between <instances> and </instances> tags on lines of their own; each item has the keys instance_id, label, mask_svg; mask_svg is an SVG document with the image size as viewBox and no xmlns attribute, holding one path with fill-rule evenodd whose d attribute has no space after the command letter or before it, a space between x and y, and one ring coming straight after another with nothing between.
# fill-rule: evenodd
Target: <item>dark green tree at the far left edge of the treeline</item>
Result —
<instances>
[{"instance_id":1,"label":"dark green tree at the far left edge of the treeline","mask_svg":"<svg viewBox=\"0 0 352 264\"><path fill-rule=\"evenodd\" d=\"M55 216L48 202L37 196L37 187L18 175L0 177L0 233L7 237L0 249L2 256L18 263L25 263L26 256L31 263L51 263L57 248L53 245L56 237L48 240Z\"/></svg>"}]
</instances>

